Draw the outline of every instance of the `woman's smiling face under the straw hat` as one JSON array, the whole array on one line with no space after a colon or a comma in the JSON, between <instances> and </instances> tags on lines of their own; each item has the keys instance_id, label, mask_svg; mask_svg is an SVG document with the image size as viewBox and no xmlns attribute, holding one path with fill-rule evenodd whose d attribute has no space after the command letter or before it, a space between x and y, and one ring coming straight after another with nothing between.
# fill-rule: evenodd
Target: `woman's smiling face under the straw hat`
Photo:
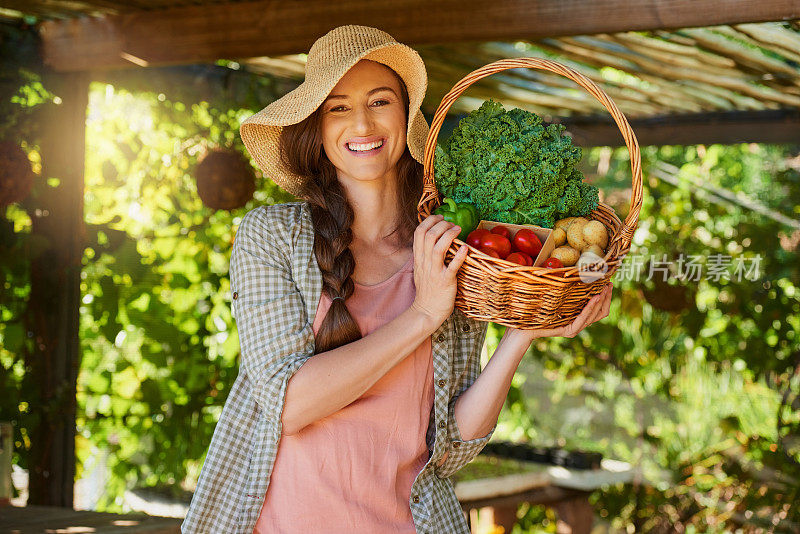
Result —
<instances>
[{"instance_id":1,"label":"woman's smiling face under the straw hat","mask_svg":"<svg viewBox=\"0 0 800 534\"><path fill-rule=\"evenodd\" d=\"M406 149L406 109L393 71L356 63L323 102L322 146L340 180L395 179Z\"/></svg>"}]
</instances>

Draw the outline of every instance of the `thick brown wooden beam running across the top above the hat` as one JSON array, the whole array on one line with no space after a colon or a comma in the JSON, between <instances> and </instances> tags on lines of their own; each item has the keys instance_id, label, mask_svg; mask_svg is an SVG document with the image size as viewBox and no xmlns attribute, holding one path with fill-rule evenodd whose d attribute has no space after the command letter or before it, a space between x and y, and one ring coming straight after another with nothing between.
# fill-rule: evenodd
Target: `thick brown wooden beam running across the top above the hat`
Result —
<instances>
[{"instance_id":1,"label":"thick brown wooden beam running across the top above the hat","mask_svg":"<svg viewBox=\"0 0 800 534\"><path fill-rule=\"evenodd\" d=\"M664 30L800 17L800 0L271 0L42 22L59 71L306 52L343 24L379 27L415 45Z\"/></svg>"}]
</instances>

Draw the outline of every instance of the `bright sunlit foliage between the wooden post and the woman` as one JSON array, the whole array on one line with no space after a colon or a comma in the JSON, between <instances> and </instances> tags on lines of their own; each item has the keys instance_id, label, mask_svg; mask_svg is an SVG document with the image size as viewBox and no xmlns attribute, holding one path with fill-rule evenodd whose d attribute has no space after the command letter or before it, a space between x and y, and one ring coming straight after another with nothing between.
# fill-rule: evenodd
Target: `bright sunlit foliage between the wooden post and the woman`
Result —
<instances>
[{"instance_id":1,"label":"bright sunlit foliage between the wooden post and the woman","mask_svg":"<svg viewBox=\"0 0 800 534\"><path fill-rule=\"evenodd\" d=\"M242 215L294 198L262 178L238 210L213 211L192 170L204 146L243 150L251 110L91 88L78 379L84 461L108 444L118 508L125 488L191 487L236 378L228 259ZM192 436L192 439L186 439Z\"/></svg>"}]
</instances>

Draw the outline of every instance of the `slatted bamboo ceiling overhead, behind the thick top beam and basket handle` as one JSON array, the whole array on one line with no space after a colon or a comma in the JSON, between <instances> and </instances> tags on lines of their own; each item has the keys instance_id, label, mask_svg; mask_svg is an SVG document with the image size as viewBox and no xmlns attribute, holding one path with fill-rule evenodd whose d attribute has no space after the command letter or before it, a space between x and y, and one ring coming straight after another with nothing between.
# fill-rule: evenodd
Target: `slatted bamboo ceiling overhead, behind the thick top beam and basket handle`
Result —
<instances>
[{"instance_id":1,"label":"slatted bamboo ceiling overhead, behind the thick top beam and basket handle","mask_svg":"<svg viewBox=\"0 0 800 534\"><path fill-rule=\"evenodd\" d=\"M246 5L231 0L0 0L0 18L60 20L220 4ZM575 68L599 83L631 119L727 111L800 111L800 19L413 46L428 68L429 90L423 109L429 114L468 72L514 56L544 57ZM299 82L305 55L246 58L239 63L247 70ZM468 112L487 98L545 117L607 115L605 108L574 82L530 69L479 80L456 101L450 113Z\"/></svg>"}]
</instances>

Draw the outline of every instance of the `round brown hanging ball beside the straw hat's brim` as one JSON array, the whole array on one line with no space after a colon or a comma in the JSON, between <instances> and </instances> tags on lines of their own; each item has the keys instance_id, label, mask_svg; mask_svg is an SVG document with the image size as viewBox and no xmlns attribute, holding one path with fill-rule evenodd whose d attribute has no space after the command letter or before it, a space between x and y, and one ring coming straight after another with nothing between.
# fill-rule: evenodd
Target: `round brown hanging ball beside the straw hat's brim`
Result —
<instances>
[{"instance_id":1,"label":"round brown hanging ball beside the straw hat's brim","mask_svg":"<svg viewBox=\"0 0 800 534\"><path fill-rule=\"evenodd\" d=\"M195 168L195 179L203 204L218 210L241 208L256 190L252 165L232 149L208 150Z\"/></svg>"}]
</instances>

